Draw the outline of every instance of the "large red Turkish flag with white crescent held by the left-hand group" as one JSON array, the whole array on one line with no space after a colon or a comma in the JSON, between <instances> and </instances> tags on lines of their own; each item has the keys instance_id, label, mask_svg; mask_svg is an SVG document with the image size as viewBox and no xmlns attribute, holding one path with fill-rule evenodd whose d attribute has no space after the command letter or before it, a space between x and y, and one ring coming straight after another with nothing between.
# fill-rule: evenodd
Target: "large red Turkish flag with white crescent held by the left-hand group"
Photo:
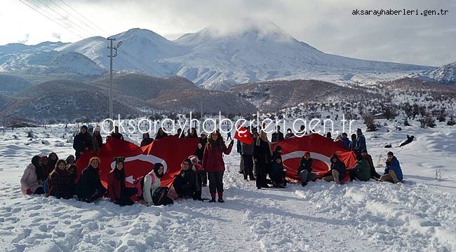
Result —
<instances>
[{"instance_id":1,"label":"large red Turkish flag with white crescent held by the left-hand group","mask_svg":"<svg viewBox=\"0 0 456 252\"><path fill-rule=\"evenodd\" d=\"M147 146L137 146L129 141L123 141L112 137L107 137L106 144L100 148L100 154L85 151L76 162L78 174L88 167L90 158L97 156L100 158L100 180L103 186L107 188L108 174L114 169L116 163L114 157L124 157L126 187L134 187L135 179L145 176L152 169L154 163L163 164L165 175L161 179L161 186L170 187L173 184L174 176L180 173L180 164L182 160L193 155L196 146L199 143L198 138L182 139L177 137L165 137L157 139Z\"/></svg>"}]
</instances>

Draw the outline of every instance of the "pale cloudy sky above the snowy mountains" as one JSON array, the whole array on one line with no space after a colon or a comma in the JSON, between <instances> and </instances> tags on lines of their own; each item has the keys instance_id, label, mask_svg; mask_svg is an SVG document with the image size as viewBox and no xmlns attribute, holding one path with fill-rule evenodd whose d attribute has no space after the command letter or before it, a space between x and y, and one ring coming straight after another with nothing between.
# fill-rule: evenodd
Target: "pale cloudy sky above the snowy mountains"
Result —
<instances>
[{"instance_id":1,"label":"pale cloudy sky above the snowy mountains","mask_svg":"<svg viewBox=\"0 0 456 252\"><path fill-rule=\"evenodd\" d=\"M291 36L323 52L425 65L456 61L456 1L453 0L68 0L67 3L107 31L95 32L86 27L84 32L91 35L109 36L140 27L172 39L211 24L229 27L234 20L252 17L269 19ZM0 13L0 22L14 25L5 28L0 44L18 41L27 33L30 34L27 43L55 40L50 35L53 33L61 34L62 41L80 39L20 1L6 1L3 7L7 10ZM449 13L428 17L361 17L351 15L355 8L443 8Z\"/></svg>"}]
</instances>

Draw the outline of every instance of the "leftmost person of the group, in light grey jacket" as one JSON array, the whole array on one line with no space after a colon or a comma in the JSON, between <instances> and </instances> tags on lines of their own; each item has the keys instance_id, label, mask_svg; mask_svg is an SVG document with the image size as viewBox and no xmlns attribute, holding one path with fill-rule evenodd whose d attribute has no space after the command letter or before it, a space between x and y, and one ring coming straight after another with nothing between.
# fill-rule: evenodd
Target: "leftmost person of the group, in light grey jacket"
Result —
<instances>
[{"instance_id":1,"label":"leftmost person of the group, in light grey jacket","mask_svg":"<svg viewBox=\"0 0 456 252\"><path fill-rule=\"evenodd\" d=\"M20 178L20 190L25 195L41 195L44 193L43 181L38 179L41 174L39 159L39 155L34 156Z\"/></svg>"}]
</instances>

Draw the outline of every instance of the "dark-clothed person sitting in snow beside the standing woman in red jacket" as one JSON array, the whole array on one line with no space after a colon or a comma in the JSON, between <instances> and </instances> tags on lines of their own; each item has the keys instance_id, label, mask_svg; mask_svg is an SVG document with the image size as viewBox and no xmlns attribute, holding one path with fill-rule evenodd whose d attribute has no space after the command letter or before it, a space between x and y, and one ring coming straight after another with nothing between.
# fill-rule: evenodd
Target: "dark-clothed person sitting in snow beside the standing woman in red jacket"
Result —
<instances>
[{"instance_id":1,"label":"dark-clothed person sitting in snow beside the standing woman in red jacket","mask_svg":"<svg viewBox=\"0 0 456 252\"><path fill-rule=\"evenodd\" d=\"M196 168L192 165L192 160L186 158L180 164L180 168L180 174L176 175L174 179L174 190L179 197L191 197L197 200L198 180L196 179Z\"/></svg>"}]
</instances>

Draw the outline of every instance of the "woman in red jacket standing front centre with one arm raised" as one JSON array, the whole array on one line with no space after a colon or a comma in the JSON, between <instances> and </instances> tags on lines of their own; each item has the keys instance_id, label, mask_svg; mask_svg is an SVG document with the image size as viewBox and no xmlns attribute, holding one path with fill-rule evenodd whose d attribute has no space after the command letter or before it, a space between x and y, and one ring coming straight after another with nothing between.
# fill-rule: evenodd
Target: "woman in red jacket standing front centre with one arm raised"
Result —
<instances>
[{"instance_id":1,"label":"woman in red jacket standing front centre with one arm raised","mask_svg":"<svg viewBox=\"0 0 456 252\"><path fill-rule=\"evenodd\" d=\"M224 144L222 135L217 130L210 133L208 143L204 147L202 169L208 172L209 192L212 198L209 202L215 202L215 195L218 193L218 202L223 203L223 154L229 155L233 148L234 141L229 142L228 147Z\"/></svg>"}]
</instances>

